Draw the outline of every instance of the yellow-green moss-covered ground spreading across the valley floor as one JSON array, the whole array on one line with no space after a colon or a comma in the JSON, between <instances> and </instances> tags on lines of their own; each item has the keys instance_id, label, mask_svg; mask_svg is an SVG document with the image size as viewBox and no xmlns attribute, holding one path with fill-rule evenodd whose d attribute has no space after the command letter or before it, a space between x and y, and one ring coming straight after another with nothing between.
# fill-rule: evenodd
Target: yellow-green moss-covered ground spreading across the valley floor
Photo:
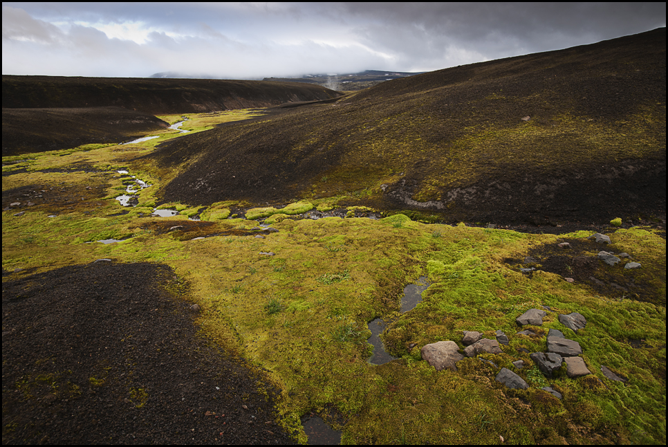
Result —
<instances>
[{"instance_id":1,"label":"yellow-green moss-covered ground spreading across the valley floor","mask_svg":"<svg viewBox=\"0 0 668 447\"><path fill-rule=\"evenodd\" d=\"M185 129L216 124L214 116L189 116ZM171 123L180 115L161 118ZM178 138L176 131L135 145L30 154L7 166L3 159L3 281L100 258L171 266L201 306L203 334L266 370L281 389L279 420L301 442L300 417L316 412L336 415L331 421L346 444L665 444L665 232L608 232L609 250L642 264L633 280L651 286L651 300L571 284L540 268L525 275L512 262L564 239L584 244L590 232L528 235L405 215L299 219L290 215L306 208L297 201L287 211L254 210L254 217L274 218L279 231L267 232L232 217L243 202L162 203L156 191L176 173L156 174L139 157L169 138ZM127 181L122 169L151 185L133 208L115 200ZM309 205L327 209L331 202ZM180 214L151 217L160 205ZM188 220L191 210L202 220ZM110 238L123 240L97 242ZM601 268L602 278L628 275L621 264ZM431 284L422 302L400 313L403 287L422 275ZM568 378L563 368L547 379L532 367L523 349L544 351L545 336L516 336L514 320L541 305L553 311L536 331L559 329L579 342L591 376ZM560 325L557 313L570 312L586 317L586 329L575 334ZM399 359L371 365L367 325L378 317L389 322L382 337ZM420 357L427 343L462 347L462 331L494 338L497 329L510 345L483 357L517 372L528 390L497 383L498 369L477 358L459 363L458 372L436 372ZM519 359L529 366L517 370L512 361ZM629 381L610 381L602 365ZM545 385L563 399L539 389Z\"/></svg>"}]
</instances>

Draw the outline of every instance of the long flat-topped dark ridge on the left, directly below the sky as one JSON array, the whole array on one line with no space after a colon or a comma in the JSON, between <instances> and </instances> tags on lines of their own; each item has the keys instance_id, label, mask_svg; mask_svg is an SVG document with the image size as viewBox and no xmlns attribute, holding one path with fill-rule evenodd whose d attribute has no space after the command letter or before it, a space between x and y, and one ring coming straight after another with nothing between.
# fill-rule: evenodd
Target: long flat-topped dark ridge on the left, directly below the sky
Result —
<instances>
[{"instance_id":1,"label":"long flat-topped dark ridge on the left, directly below the sky","mask_svg":"<svg viewBox=\"0 0 668 447\"><path fill-rule=\"evenodd\" d=\"M293 82L2 76L2 107L12 109L116 106L160 115L269 107L339 94Z\"/></svg>"}]
</instances>

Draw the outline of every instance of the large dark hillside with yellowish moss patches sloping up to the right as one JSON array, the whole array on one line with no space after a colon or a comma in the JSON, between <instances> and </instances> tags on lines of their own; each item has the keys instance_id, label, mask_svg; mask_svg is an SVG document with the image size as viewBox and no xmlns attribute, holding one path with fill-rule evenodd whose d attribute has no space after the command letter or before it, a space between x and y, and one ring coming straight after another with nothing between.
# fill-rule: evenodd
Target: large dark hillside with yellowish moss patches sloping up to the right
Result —
<instances>
[{"instance_id":1,"label":"large dark hillside with yellowish moss patches sloping up to the right","mask_svg":"<svg viewBox=\"0 0 668 447\"><path fill-rule=\"evenodd\" d=\"M165 143L165 200L348 194L476 221L665 213L665 28L384 82Z\"/></svg>"}]
</instances>

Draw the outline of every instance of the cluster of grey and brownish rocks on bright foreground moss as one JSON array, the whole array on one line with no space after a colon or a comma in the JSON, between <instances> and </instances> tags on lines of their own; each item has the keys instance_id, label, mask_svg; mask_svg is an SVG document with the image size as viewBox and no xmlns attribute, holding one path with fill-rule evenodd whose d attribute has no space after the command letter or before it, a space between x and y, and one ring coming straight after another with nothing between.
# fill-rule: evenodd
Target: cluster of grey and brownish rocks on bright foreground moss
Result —
<instances>
[{"instance_id":1,"label":"cluster of grey and brownish rocks on bright foreground moss","mask_svg":"<svg viewBox=\"0 0 668 447\"><path fill-rule=\"evenodd\" d=\"M550 310L549 307L545 308ZM517 317L516 322L520 326L541 326L543 325L543 317L546 315L547 312L544 310L529 309L521 316ZM568 327L568 329L573 330L575 333L584 329L586 326L586 319L582 314L577 312L559 314L559 322ZM540 336L540 334L536 334L530 329L518 331L517 335ZM479 354L502 354L503 351L501 350L499 343L508 345L508 336L501 330L497 330L495 336L496 340L491 340L490 338L483 338L483 334L480 332L464 331L461 340L461 343L465 345L463 354L459 352L457 343L447 340L425 345L421 350L422 358L427 361L429 365L435 367L436 370L448 368L449 370L456 371L457 362L463 360L465 357L475 357ZM546 352L532 352L529 357L547 378L553 378L555 372L562 368L562 363L566 363L566 375L570 378L577 378L592 374L584 363L584 359L579 356L580 354L582 354L582 347L580 347L579 343L566 338L562 331L550 329L547 336ZM497 367L497 365L491 361L487 361L483 358L480 358L480 360ZM512 365L514 365L517 370L521 370L524 367L524 361L514 361L512 362ZM604 376L613 381L627 381L626 378L614 374L607 367L602 367L601 371ZM506 387L513 389L526 389L528 387L523 378L505 367L501 368L501 371L496 376L496 380L503 383ZM556 392L550 387L544 387L543 390L550 392L558 399L561 399L562 397L559 392Z\"/></svg>"}]
</instances>

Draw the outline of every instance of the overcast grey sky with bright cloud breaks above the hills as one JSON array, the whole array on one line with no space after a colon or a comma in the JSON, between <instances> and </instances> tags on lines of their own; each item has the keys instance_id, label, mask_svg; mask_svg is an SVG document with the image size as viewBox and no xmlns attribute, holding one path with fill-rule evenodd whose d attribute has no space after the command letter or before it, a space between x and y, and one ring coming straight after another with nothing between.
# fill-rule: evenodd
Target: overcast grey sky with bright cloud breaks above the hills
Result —
<instances>
[{"instance_id":1,"label":"overcast grey sky with bright cloud breaks above the hills","mask_svg":"<svg viewBox=\"0 0 668 447\"><path fill-rule=\"evenodd\" d=\"M432 71L666 26L666 3L3 3L2 73Z\"/></svg>"}]
</instances>

